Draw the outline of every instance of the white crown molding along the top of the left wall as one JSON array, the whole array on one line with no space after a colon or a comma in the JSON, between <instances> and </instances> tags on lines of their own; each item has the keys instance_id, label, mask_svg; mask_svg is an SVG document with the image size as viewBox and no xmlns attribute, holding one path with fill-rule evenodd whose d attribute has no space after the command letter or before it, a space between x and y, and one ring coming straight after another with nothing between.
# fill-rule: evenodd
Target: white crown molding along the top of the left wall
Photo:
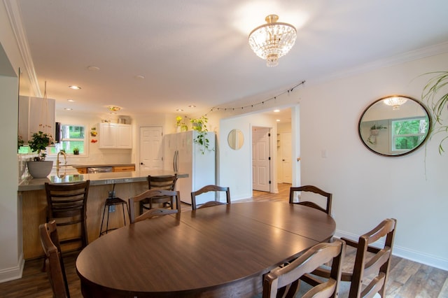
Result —
<instances>
[{"instance_id":1,"label":"white crown molding along the top of the left wall","mask_svg":"<svg viewBox=\"0 0 448 298\"><path fill-rule=\"evenodd\" d=\"M3 0L3 3L5 3L6 13L8 14L11 28L13 28L15 41L17 42L20 55L22 56L25 64L25 70L27 71L31 88L34 90L36 97L42 97L41 89L38 85L36 70L34 69L33 59L31 57L31 51L29 50L27 34L25 33L25 28L23 27L22 12L20 11L19 3L17 0Z\"/></svg>"}]
</instances>

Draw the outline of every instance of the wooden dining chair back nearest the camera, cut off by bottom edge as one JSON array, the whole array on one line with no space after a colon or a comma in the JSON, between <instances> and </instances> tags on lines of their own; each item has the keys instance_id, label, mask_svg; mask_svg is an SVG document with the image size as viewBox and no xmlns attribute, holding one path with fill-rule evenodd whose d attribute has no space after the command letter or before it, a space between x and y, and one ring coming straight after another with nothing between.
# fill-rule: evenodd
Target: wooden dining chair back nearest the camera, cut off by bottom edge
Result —
<instances>
[{"instance_id":1,"label":"wooden dining chair back nearest the camera, cut off by bottom edge","mask_svg":"<svg viewBox=\"0 0 448 298\"><path fill-rule=\"evenodd\" d=\"M266 274L263 278L262 298L296 297L300 277L331 261L330 278L311 288L302 297L338 297L344 255L344 241L316 244L293 262Z\"/></svg>"}]
</instances>

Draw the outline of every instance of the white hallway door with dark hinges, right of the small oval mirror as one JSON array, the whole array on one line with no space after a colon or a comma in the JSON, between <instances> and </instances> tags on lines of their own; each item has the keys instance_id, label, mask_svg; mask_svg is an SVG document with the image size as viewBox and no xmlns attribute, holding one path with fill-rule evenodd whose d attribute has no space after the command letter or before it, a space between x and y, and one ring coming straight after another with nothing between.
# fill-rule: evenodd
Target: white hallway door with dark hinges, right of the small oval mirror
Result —
<instances>
[{"instance_id":1,"label":"white hallway door with dark hinges, right of the small oval mirror","mask_svg":"<svg viewBox=\"0 0 448 298\"><path fill-rule=\"evenodd\" d=\"M269 128L252 128L252 189L270 191Z\"/></svg>"}]
</instances>

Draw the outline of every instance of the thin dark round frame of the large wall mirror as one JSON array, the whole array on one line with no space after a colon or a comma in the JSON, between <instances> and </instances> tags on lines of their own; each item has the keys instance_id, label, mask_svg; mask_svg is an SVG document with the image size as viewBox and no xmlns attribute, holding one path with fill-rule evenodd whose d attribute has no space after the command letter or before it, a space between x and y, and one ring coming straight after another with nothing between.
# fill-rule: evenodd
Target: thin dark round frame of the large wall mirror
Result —
<instances>
[{"instance_id":1,"label":"thin dark round frame of the large wall mirror","mask_svg":"<svg viewBox=\"0 0 448 298\"><path fill-rule=\"evenodd\" d=\"M423 112L426 113L426 116L428 117L428 132L426 133L426 136L423 139L423 141L421 141L421 143L419 143L419 145L415 146L411 150L403 152L403 153L400 153L400 154L396 154L396 155L391 155L391 154L386 154L386 153L383 153L383 152L375 151L373 148L371 148L370 146L367 145L366 141L363 139L363 136L361 134L361 122L363 122L363 118L364 118L365 114L367 113L367 111L369 111L369 109L372 108L375 104L378 104L380 101L383 101L384 99L388 99L390 97L402 97L402 98L405 98L405 99L407 99L409 101L414 101L414 103L418 104L421 107L421 109L423 110ZM418 100L416 100L416 99L414 99L412 97L405 96L405 95L391 95L391 96L387 96L387 97L382 97L381 99L377 99L376 101L372 102L372 104L367 106L367 108L365 108L363 113L360 115L360 118L359 118L359 121L358 121L358 136L359 136L359 139L361 140L361 142L363 143L363 145L368 150L374 152L375 154L381 155L381 156L385 156L385 157L400 157L400 156L408 155L408 154L416 151L417 149L419 149L423 145L423 143L428 141L428 137L430 135L431 128L433 127L432 125L433 125L433 122L432 122L431 114L430 114L428 108L426 108L426 106L424 104L422 104L420 101L418 101Z\"/></svg>"}]
</instances>

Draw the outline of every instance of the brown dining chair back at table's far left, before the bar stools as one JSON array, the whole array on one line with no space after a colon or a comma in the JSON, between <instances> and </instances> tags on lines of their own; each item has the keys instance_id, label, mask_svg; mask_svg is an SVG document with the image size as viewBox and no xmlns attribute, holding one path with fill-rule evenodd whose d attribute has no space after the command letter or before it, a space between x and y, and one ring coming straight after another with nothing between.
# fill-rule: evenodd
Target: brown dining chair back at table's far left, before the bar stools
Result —
<instances>
[{"instance_id":1,"label":"brown dining chair back at table's far left, before the bar stools","mask_svg":"<svg viewBox=\"0 0 448 298\"><path fill-rule=\"evenodd\" d=\"M176 205L176 209L167 209L167 208L152 208L148 211L145 211L143 214L138 216L135 215L135 206L134 204L140 204L141 201L145 199L152 199L154 197L169 197L171 206ZM174 190L146 190L141 194L131 197L129 199L129 212L130 212L130 221L131 223L139 222L140 220L145 220L146 218L153 218L159 215L167 215L172 213L181 212L181 193L179 191Z\"/></svg>"}]
</instances>

